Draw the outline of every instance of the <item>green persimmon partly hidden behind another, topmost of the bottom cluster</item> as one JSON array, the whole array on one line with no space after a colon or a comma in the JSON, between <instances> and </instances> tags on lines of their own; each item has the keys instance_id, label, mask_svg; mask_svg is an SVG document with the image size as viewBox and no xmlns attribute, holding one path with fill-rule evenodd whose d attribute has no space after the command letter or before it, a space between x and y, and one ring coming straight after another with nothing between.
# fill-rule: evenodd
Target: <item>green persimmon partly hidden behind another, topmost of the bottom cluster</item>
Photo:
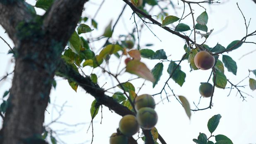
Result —
<instances>
[{"instance_id":1,"label":"green persimmon partly hidden behind another, topmost of the bottom cluster","mask_svg":"<svg viewBox=\"0 0 256 144\"><path fill-rule=\"evenodd\" d=\"M155 100L151 95L143 94L135 98L135 109L138 111L142 107L155 109Z\"/></svg>"}]
</instances>

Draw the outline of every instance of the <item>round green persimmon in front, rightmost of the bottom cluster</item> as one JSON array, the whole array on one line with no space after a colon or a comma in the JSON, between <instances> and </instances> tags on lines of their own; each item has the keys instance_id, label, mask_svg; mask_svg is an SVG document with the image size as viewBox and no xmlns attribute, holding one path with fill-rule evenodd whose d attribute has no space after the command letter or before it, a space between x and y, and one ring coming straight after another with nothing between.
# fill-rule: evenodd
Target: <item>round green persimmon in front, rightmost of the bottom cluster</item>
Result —
<instances>
[{"instance_id":1,"label":"round green persimmon in front, rightmost of the bottom cluster","mask_svg":"<svg viewBox=\"0 0 256 144\"><path fill-rule=\"evenodd\" d=\"M137 111L137 121L141 128L150 130L157 124L157 112L150 107L142 107Z\"/></svg>"}]
</instances>

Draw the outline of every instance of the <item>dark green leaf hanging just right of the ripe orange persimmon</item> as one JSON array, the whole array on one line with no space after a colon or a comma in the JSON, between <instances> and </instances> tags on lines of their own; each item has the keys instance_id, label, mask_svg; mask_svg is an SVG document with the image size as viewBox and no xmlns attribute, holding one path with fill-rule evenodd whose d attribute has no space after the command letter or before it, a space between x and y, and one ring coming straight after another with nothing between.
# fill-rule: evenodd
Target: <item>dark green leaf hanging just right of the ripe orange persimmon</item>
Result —
<instances>
[{"instance_id":1,"label":"dark green leaf hanging just right of the ripe orange persimmon","mask_svg":"<svg viewBox=\"0 0 256 144\"><path fill-rule=\"evenodd\" d=\"M230 56L223 55L222 61L225 67L227 67L227 71L237 75L237 63Z\"/></svg>"}]
</instances>

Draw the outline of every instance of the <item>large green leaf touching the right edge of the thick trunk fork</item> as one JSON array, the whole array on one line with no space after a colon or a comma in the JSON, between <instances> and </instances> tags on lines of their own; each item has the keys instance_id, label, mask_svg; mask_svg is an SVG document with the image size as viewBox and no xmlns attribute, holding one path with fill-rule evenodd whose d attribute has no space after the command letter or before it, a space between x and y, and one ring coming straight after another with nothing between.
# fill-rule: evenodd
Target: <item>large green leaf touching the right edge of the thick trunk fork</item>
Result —
<instances>
[{"instance_id":1,"label":"large green leaf touching the right edge of the thick trunk fork","mask_svg":"<svg viewBox=\"0 0 256 144\"><path fill-rule=\"evenodd\" d=\"M79 35L77 34L77 32L74 32L69 41L68 41L68 47L74 52L76 53L77 55L79 55L79 52L80 52L80 46L81 46L81 43L80 43L80 37Z\"/></svg>"}]
</instances>

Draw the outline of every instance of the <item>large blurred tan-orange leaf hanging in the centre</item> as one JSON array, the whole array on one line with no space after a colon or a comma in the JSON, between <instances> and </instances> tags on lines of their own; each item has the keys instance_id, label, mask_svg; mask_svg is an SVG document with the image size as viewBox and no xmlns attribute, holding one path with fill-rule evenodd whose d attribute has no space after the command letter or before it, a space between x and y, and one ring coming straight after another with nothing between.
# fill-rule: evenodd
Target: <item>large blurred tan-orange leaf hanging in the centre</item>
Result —
<instances>
[{"instance_id":1,"label":"large blurred tan-orange leaf hanging in the centre","mask_svg":"<svg viewBox=\"0 0 256 144\"><path fill-rule=\"evenodd\" d=\"M135 74L143 79L147 79L152 82L155 81L153 74L151 74L147 66L144 63L140 62L140 60L131 60L126 66L126 72Z\"/></svg>"}]
</instances>

